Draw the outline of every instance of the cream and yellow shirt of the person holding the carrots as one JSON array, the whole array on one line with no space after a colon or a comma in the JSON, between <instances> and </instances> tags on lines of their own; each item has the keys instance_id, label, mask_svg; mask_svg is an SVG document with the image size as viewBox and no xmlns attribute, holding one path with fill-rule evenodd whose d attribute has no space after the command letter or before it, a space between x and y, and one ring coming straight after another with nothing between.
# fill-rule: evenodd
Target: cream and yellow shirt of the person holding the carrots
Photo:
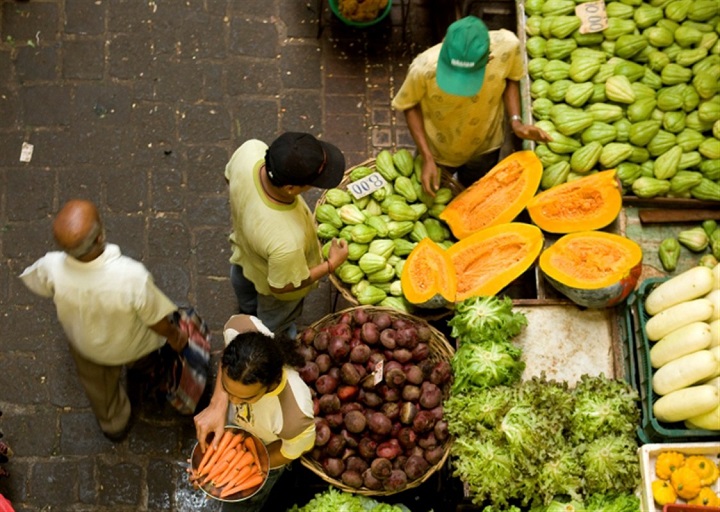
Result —
<instances>
[{"instance_id":1,"label":"cream and yellow shirt of the person holding the carrots","mask_svg":"<svg viewBox=\"0 0 720 512\"><path fill-rule=\"evenodd\" d=\"M223 331L225 345L240 332L254 329L272 336L267 327L253 316L230 317ZM266 445L279 439L282 442L280 453L287 459L297 459L315 445L310 388L292 368L283 368L280 385L254 404L230 404L228 416L231 423L257 435Z\"/></svg>"}]
</instances>

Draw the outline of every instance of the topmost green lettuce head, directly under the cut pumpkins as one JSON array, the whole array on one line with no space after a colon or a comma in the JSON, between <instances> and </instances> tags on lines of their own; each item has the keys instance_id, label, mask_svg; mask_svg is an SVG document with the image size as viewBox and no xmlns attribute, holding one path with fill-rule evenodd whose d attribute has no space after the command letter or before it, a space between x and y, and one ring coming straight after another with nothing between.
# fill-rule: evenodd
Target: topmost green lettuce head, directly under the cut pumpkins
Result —
<instances>
[{"instance_id":1,"label":"topmost green lettuce head, directly under the cut pumpkins","mask_svg":"<svg viewBox=\"0 0 720 512\"><path fill-rule=\"evenodd\" d=\"M455 305L448 325L463 342L505 341L520 334L527 318L512 310L509 297L470 297Z\"/></svg>"}]
</instances>

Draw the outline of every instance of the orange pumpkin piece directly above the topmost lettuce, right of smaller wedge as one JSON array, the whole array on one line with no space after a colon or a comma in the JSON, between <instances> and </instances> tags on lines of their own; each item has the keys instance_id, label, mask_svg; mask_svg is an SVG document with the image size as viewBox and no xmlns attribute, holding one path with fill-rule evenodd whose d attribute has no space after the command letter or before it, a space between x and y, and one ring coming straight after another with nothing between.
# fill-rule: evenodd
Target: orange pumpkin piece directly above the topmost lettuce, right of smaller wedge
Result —
<instances>
[{"instance_id":1,"label":"orange pumpkin piece directly above the topmost lettuce, right of smaller wedge","mask_svg":"<svg viewBox=\"0 0 720 512\"><path fill-rule=\"evenodd\" d=\"M448 250L457 275L455 301L496 295L533 264L543 247L531 224L499 224L453 244Z\"/></svg>"}]
</instances>

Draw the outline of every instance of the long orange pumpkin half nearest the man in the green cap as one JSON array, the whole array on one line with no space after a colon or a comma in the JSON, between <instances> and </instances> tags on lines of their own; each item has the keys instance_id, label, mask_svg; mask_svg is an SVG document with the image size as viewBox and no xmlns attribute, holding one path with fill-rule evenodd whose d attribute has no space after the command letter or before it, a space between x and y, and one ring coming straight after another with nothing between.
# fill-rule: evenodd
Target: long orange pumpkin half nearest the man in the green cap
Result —
<instances>
[{"instance_id":1,"label":"long orange pumpkin half nearest the man in the green cap","mask_svg":"<svg viewBox=\"0 0 720 512\"><path fill-rule=\"evenodd\" d=\"M541 177L542 163L535 152L512 153L458 194L440 218L459 240L511 222L535 195Z\"/></svg>"}]
</instances>

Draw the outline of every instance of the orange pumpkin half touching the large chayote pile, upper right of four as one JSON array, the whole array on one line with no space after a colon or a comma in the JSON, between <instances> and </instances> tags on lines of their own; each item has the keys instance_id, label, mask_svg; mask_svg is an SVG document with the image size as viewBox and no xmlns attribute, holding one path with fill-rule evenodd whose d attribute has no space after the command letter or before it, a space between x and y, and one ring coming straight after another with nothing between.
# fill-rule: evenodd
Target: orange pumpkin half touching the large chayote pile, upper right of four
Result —
<instances>
[{"instance_id":1,"label":"orange pumpkin half touching the large chayote pile, upper right of four","mask_svg":"<svg viewBox=\"0 0 720 512\"><path fill-rule=\"evenodd\" d=\"M527 204L532 221L548 233L601 229L614 221L621 209L622 191L615 169L552 187Z\"/></svg>"}]
</instances>

